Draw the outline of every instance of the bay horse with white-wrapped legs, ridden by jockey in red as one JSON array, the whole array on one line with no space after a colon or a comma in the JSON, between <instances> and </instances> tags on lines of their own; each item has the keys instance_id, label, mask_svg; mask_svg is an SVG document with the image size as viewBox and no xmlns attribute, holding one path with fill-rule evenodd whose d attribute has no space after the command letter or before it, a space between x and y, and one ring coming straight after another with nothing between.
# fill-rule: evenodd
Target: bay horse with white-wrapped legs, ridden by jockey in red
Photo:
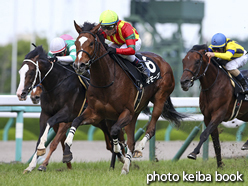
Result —
<instances>
[{"instance_id":1,"label":"bay horse with white-wrapped legs, ridden by jockey in red","mask_svg":"<svg viewBox=\"0 0 248 186\"><path fill-rule=\"evenodd\" d=\"M144 149L145 143L154 136L156 122L160 116L173 121L177 126L183 118L183 115L176 112L170 99L170 94L175 86L172 69L159 55L151 52L142 53L159 66L161 78L144 87L143 97L138 108L134 110L137 87L124 70L107 55L104 38L98 32L100 24L85 22L82 28L76 22L74 25L79 33L75 41L77 58L74 68L79 73L81 70L90 68L90 86L87 92L88 107L72 123L65 141L63 161L69 162L72 159L70 146L80 124L97 124L103 119L115 120L117 122L111 127L110 132L113 138L114 152L120 151L117 138L122 128L127 134L127 153L121 171L122 174L127 174L134 153L135 123L139 113L147 107L149 101L154 104L152 118L147 126L145 137L135 151L135 157L142 155L141 150Z\"/></svg>"}]
</instances>

